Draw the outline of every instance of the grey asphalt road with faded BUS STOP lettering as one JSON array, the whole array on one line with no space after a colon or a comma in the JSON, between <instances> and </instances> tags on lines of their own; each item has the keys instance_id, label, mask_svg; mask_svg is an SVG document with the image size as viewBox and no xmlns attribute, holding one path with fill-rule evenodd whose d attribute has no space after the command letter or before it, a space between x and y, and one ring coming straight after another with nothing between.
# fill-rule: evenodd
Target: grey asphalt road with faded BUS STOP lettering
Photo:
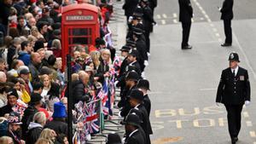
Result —
<instances>
[{"instance_id":1,"label":"grey asphalt road with faded BUS STOP lettering","mask_svg":"<svg viewBox=\"0 0 256 144\"><path fill-rule=\"evenodd\" d=\"M228 66L230 52L240 55L247 68L252 103L242 112L238 144L256 144L256 1L235 1L233 46L222 48L223 21L217 7L222 1L191 0L195 11L189 43L183 51L177 0L159 0L151 35L151 56L146 69L152 101L153 143L229 144L224 107L216 107L215 96L221 71Z\"/></svg>"}]
</instances>

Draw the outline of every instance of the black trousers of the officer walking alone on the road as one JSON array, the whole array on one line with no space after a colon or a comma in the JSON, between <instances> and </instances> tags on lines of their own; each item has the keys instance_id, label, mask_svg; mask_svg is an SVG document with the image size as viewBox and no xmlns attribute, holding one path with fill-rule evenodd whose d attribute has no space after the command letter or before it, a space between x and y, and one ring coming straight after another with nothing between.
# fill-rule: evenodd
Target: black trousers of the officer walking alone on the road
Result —
<instances>
[{"instance_id":1,"label":"black trousers of the officer walking alone on the road","mask_svg":"<svg viewBox=\"0 0 256 144\"><path fill-rule=\"evenodd\" d=\"M241 110L243 105L225 105L228 112L230 137L237 137L241 129Z\"/></svg>"}]
</instances>

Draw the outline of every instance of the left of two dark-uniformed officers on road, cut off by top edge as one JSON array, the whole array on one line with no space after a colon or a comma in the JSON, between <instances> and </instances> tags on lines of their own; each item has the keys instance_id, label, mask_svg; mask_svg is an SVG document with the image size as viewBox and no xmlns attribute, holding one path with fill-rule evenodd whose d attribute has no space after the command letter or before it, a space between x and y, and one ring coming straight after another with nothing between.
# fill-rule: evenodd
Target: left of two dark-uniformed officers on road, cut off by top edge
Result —
<instances>
[{"instance_id":1,"label":"left of two dark-uniformed officers on road, cut off by top edge","mask_svg":"<svg viewBox=\"0 0 256 144\"><path fill-rule=\"evenodd\" d=\"M182 49L192 49L189 45L189 33L191 27L191 19L193 17L193 8L190 0L178 0L179 4L179 21L183 26L183 42Z\"/></svg>"}]
</instances>

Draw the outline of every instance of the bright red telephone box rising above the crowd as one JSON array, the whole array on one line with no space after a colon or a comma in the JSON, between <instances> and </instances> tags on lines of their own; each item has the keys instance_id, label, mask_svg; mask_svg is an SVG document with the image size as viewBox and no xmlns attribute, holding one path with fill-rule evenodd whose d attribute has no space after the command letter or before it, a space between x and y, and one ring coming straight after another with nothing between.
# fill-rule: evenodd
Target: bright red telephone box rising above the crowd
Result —
<instances>
[{"instance_id":1,"label":"bright red telephone box rising above the crowd","mask_svg":"<svg viewBox=\"0 0 256 144\"><path fill-rule=\"evenodd\" d=\"M66 55L77 45L90 46L100 37L98 8L95 5L71 4L61 10L62 62L66 66Z\"/></svg>"}]
</instances>

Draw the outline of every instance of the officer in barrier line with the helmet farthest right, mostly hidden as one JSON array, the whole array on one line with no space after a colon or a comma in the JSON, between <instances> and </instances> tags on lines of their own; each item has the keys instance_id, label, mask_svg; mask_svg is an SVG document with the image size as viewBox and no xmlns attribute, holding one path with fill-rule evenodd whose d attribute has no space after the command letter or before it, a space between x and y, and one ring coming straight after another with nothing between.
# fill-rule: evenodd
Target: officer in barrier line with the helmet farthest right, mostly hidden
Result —
<instances>
[{"instance_id":1,"label":"officer in barrier line with the helmet farthest right, mostly hidden","mask_svg":"<svg viewBox=\"0 0 256 144\"><path fill-rule=\"evenodd\" d=\"M150 111L151 111L151 101L148 97L148 90L149 89L149 82L147 79L140 79L137 82L137 89L140 89L143 92L144 98L143 98L143 105L146 108L147 112L148 112L148 118L150 115Z\"/></svg>"}]
</instances>

